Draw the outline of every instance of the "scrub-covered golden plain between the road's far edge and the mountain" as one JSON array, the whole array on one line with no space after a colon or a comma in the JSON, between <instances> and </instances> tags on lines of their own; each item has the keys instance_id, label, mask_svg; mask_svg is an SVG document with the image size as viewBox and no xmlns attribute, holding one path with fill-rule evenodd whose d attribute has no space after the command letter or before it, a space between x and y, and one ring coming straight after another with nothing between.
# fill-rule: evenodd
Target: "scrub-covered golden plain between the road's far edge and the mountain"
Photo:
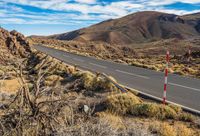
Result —
<instances>
[{"instance_id":1,"label":"scrub-covered golden plain between the road's far edge and the mountain","mask_svg":"<svg viewBox=\"0 0 200 136\"><path fill-rule=\"evenodd\" d=\"M137 67L164 71L166 50L170 51L169 72L200 77L200 39L193 41L167 39L134 45L110 45L103 42L61 41L29 38L33 44L42 44L98 59L112 60ZM188 52L191 50L191 54Z\"/></svg>"}]
</instances>

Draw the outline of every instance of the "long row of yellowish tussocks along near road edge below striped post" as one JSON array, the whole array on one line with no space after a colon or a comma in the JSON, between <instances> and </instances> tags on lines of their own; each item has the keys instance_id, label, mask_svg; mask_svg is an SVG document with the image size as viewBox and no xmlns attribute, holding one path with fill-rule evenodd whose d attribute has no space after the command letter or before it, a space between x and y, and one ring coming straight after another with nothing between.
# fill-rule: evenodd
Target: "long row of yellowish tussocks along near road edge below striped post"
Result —
<instances>
[{"instance_id":1,"label":"long row of yellowish tussocks along near road edge below striped post","mask_svg":"<svg viewBox=\"0 0 200 136\"><path fill-rule=\"evenodd\" d=\"M111 95L107 98L106 105L108 111L114 114L129 114L137 117L156 118L160 120L194 121L194 117L191 114L184 113L178 106L142 102L139 97L132 93Z\"/></svg>"}]
</instances>

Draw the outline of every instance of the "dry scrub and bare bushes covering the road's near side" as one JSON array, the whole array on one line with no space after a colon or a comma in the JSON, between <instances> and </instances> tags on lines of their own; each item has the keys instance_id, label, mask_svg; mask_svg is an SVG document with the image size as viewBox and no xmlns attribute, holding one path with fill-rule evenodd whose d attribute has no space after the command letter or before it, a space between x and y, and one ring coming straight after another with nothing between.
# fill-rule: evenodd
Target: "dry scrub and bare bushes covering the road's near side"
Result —
<instances>
[{"instance_id":1,"label":"dry scrub and bare bushes covering the road's near side","mask_svg":"<svg viewBox=\"0 0 200 136\"><path fill-rule=\"evenodd\" d=\"M7 90L1 94L1 135L200 133L197 117L176 106L121 93L104 76L79 71L37 52L13 64L19 68L14 75L22 84L12 94Z\"/></svg>"}]
</instances>

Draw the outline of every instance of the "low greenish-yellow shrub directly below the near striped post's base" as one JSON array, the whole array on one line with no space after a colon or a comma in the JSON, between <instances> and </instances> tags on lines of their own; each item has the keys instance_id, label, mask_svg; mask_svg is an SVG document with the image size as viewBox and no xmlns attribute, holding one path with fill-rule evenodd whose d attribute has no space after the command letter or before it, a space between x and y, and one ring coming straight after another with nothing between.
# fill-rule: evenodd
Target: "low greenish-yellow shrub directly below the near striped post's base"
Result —
<instances>
[{"instance_id":1,"label":"low greenish-yellow shrub directly below the near striped post's base","mask_svg":"<svg viewBox=\"0 0 200 136\"><path fill-rule=\"evenodd\" d=\"M169 106L156 103L142 103L132 107L131 114L135 116L155 117L158 119L175 119L177 114Z\"/></svg>"}]
</instances>

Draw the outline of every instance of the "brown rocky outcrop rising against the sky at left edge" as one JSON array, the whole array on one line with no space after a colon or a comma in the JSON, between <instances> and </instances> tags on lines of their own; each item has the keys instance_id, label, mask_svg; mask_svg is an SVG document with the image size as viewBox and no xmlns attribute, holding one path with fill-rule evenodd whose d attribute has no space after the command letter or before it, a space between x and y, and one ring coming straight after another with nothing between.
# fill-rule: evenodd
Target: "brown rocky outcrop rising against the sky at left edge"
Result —
<instances>
[{"instance_id":1,"label":"brown rocky outcrop rising against the sky at left edge","mask_svg":"<svg viewBox=\"0 0 200 136\"><path fill-rule=\"evenodd\" d=\"M30 52L29 42L24 35L13 30L11 32L0 28L0 56L5 55L17 55L20 57L26 57Z\"/></svg>"}]
</instances>

